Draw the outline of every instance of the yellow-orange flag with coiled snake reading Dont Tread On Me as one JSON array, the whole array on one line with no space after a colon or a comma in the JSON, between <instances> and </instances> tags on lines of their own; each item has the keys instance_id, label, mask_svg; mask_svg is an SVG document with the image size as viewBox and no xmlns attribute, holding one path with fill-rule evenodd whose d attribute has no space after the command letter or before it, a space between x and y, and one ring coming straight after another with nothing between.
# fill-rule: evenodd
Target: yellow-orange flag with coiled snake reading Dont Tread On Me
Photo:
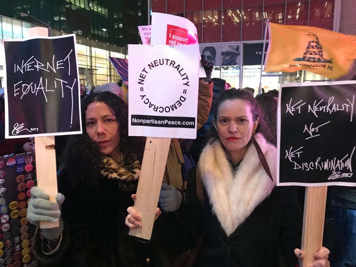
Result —
<instances>
[{"instance_id":1,"label":"yellow-orange flag with coiled snake reading Dont Tread On Me","mask_svg":"<svg viewBox=\"0 0 356 267\"><path fill-rule=\"evenodd\" d=\"M336 79L356 59L356 36L309 26L268 23L265 71L306 70Z\"/></svg>"}]
</instances>

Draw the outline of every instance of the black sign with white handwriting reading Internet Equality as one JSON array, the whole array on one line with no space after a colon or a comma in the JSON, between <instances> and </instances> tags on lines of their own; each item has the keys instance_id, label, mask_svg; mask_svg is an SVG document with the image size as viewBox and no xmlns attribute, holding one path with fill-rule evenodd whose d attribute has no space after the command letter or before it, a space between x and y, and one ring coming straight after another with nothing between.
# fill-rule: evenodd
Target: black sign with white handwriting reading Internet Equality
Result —
<instances>
[{"instance_id":1,"label":"black sign with white handwriting reading Internet Equality","mask_svg":"<svg viewBox=\"0 0 356 267\"><path fill-rule=\"evenodd\" d=\"M75 35L3 46L6 138L81 133Z\"/></svg>"}]
</instances>

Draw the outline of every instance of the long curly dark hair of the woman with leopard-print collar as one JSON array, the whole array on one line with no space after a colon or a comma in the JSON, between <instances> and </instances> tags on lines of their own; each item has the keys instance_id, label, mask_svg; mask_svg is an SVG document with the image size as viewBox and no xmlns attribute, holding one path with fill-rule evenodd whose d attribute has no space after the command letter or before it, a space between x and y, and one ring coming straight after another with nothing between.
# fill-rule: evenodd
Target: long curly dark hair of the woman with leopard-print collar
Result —
<instances>
[{"instance_id":1,"label":"long curly dark hair of the woman with leopard-print collar","mask_svg":"<svg viewBox=\"0 0 356 267\"><path fill-rule=\"evenodd\" d=\"M62 167L71 176L74 184L79 181L90 183L100 178L102 154L98 145L89 138L85 123L86 110L93 102L104 102L115 114L119 123L120 149L124 158L134 157L142 161L143 157L145 138L128 135L128 106L125 101L108 91L89 94L82 100L81 105L83 134L75 134L68 139L61 157Z\"/></svg>"}]
</instances>

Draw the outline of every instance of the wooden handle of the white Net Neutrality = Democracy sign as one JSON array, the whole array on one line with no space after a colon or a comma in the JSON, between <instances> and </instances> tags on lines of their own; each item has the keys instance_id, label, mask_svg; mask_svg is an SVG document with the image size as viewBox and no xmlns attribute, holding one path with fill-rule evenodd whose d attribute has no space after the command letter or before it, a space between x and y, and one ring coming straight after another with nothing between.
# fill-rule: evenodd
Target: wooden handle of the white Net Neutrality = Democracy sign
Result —
<instances>
[{"instance_id":1,"label":"wooden handle of the white Net Neutrality = Democracy sign","mask_svg":"<svg viewBox=\"0 0 356 267\"><path fill-rule=\"evenodd\" d=\"M150 239L166 167L171 138L147 137L138 181L135 209L140 213L142 226L130 229L129 235Z\"/></svg>"}]
</instances>

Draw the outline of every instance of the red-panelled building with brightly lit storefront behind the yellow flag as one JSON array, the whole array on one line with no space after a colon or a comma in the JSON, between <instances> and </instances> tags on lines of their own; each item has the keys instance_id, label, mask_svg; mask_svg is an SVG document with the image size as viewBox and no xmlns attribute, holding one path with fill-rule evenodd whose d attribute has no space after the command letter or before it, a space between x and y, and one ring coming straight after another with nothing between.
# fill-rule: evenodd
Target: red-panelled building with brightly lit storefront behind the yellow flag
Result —
<instances>
[{"instance_id":1,"label":"red-panelled building with brightly lit storefront behind the yellow flag","mask_svg":"<svg viewBox=\"0 0 356 267\"><path fill-rule=\"evenodd\" d=\"M284 83L329 80L306 71L265 73L261 63L268 46L267 42L263 51L266 20L335 30L334 20L338 18L334 17L334 5L335 0L151 0L153 12L178 15L195 24L200 51L205 48L216 54L212 77L255 91L260 79L267 90L279 89ZM223 51L233 46L238 46L240 55L234 64L226 65Z\"/></svg>"}]
</instances>

